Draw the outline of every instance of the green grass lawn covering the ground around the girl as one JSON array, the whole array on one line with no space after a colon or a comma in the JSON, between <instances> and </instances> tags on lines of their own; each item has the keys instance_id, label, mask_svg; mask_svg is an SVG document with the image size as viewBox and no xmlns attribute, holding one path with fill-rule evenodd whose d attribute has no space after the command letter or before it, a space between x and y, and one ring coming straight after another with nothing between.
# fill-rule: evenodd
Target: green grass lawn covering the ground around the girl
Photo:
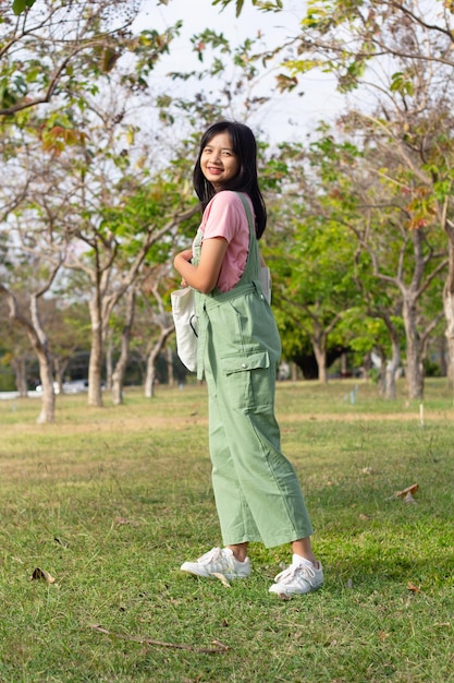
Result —
<instances>
[{"instance_id":1,"label":"green grass lawn covering the ground around the girl","mask_svg":"<svg viewBox=\"0 0 454 683\"><path fill-rule=\"evenodd\" d=\"M421 426L404 386L355 386L278 387L326 572L287 601L268 594L286 547L251 544L231 588L179 571L220 544L205 387L60 396L53 426L1 402L0 681L453 681L453 396L428 382ZM416 503L395 498L415 482Z\"/></svg>"}]
</instances>

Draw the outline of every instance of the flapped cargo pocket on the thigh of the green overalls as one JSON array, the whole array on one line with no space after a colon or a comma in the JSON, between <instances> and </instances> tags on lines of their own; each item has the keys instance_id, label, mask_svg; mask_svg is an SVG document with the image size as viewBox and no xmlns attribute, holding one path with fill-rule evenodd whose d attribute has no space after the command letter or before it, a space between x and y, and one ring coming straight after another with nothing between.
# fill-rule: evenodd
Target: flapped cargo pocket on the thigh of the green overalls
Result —
<instances>
[{"instance_id":1,"label":"flapped cargo pocket on the thigh of the green overalls","mask_svg":"<svg viewBox=\"0 0 454 683\"><path fill-rule=\"evenodd\" d=\"M220 370L222 394L231 408L250 412L270 405L273 380L267 350L221 357Z\"/></svg>"}]
</instances>

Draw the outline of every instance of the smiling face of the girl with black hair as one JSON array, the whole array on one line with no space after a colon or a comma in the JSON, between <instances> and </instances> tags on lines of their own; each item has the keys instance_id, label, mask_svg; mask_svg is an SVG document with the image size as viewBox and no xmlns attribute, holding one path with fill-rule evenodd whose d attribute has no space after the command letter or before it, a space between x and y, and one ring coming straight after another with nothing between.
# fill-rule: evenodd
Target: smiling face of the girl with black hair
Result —
<instances>
[{"instance_id":1,"label":"smiling face of the girl with black hair","mask_svg":"<svg viewBox=\"0 0 454 683\"><path fill-rule=\"evenodd\" d=\"M228 132L218 133L206 144L200 156L200 168L205 178L218 192L240 170L240 161L232 148Z\"/></svg>"}]
</instances>

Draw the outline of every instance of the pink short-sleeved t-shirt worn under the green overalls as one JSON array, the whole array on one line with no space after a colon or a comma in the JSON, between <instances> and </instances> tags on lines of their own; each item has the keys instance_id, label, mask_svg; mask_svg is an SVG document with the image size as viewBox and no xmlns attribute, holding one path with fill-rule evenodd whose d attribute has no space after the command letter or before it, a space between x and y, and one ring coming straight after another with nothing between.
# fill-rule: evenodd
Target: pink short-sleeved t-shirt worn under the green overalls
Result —
<instances>
[{"instance_id":1,"label":"pink short-sleeved t-shirt worn under the green overalls","mask_svg":"<svg viewBox=\"0 0 454 683\"><path fill-rule=\"evenodd\" d=\"M246 199L254 217L253 203ZM229 291L243 275L249 251L249 224L240 196L231 190L214 194L204 212L200 229L203 239L223 237L229 244L218 279L219 289Z\"/></svg>"}]
</instances>

